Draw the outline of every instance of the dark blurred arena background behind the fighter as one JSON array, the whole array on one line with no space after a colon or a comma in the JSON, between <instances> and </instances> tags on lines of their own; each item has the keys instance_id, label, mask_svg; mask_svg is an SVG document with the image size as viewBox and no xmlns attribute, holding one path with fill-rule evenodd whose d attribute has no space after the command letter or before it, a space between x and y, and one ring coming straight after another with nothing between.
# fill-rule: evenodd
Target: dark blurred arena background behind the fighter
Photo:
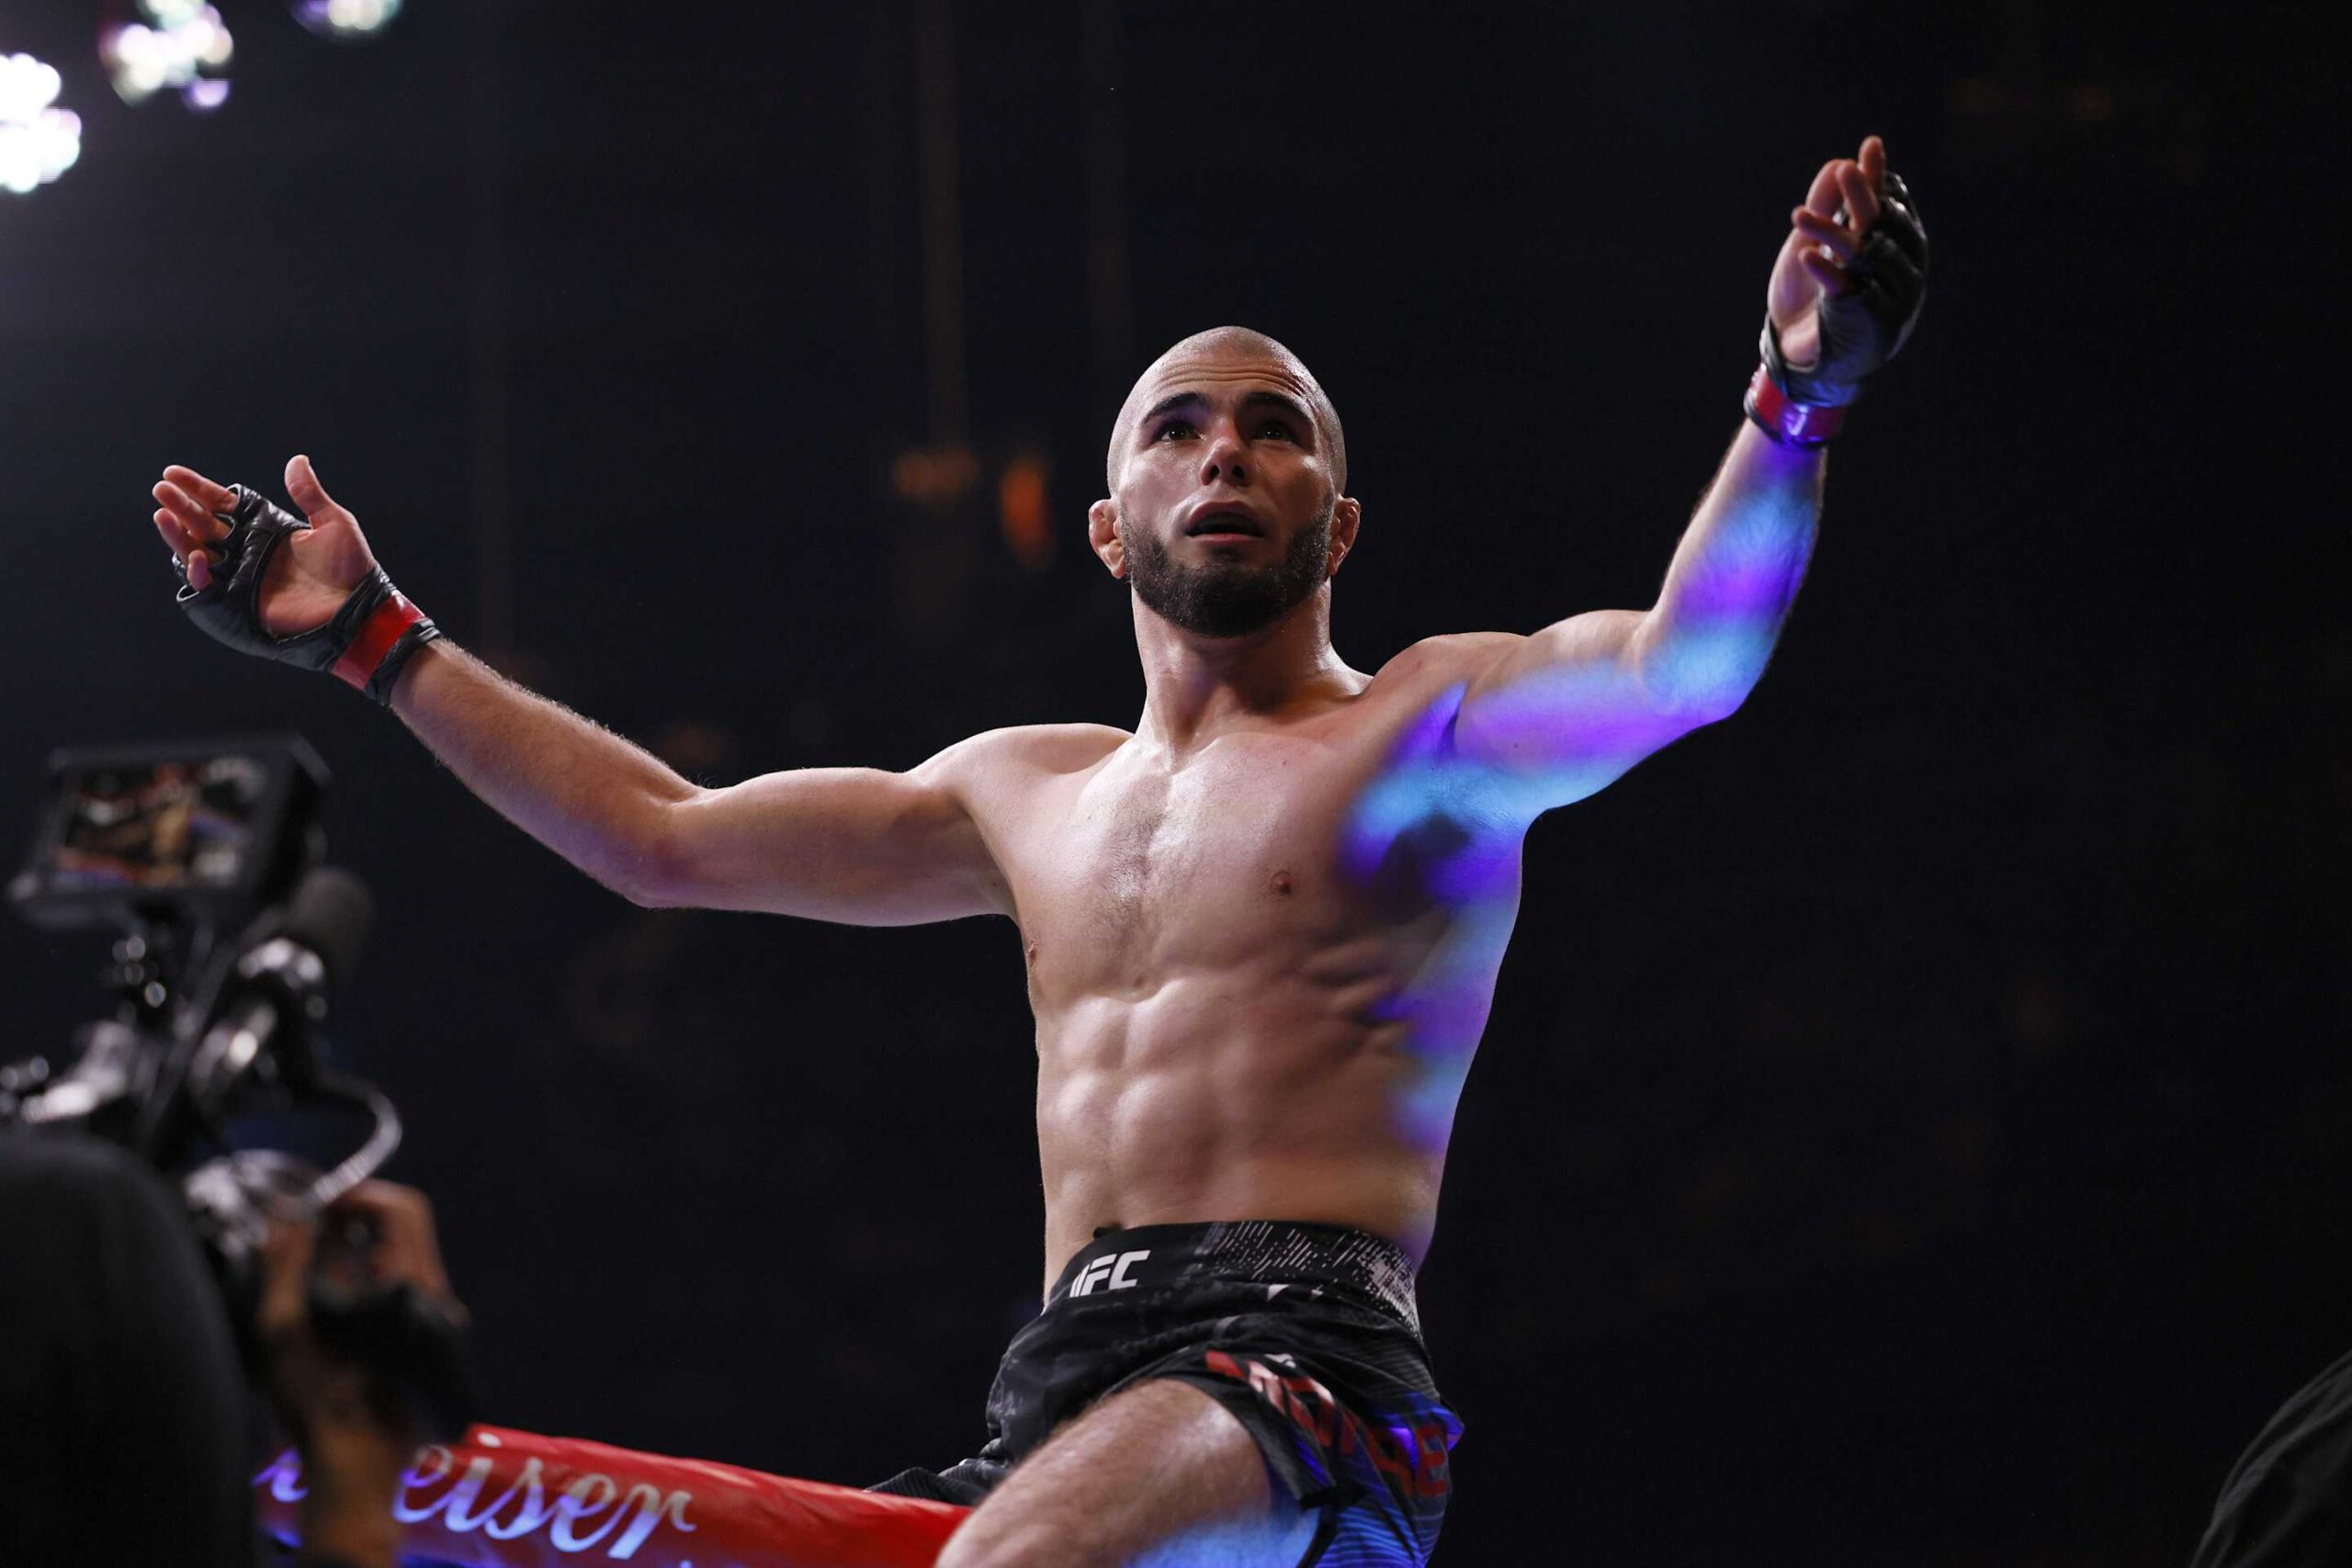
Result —
<instances>
[{"instance_id":1,"label":"dark blurred arena background behind the fighter","mask_svg":"<svg viewBox=\"0 0 2352 1568\"><path fill-rule=\"evenodd\" d=\"M195 635L167 461L308 451L452 637L703 783L1131 724L1084 508L1162 346L1331 388L1352 665L1644 607L1865 132L1936 280L1773 670L1529 844L1423 1272L1437 1556L2183 1563L2352 1349L2319 7L219 5L212 110L125 103L99 0L0 9L82 118L0 190L0 825L64 743L318 748L379 905L336 1051L494 1420L969 1453L1040 1276L1014 931L623 903ZM0 929L0 1056L103 957Z\"/></svg>"}]
</instances>

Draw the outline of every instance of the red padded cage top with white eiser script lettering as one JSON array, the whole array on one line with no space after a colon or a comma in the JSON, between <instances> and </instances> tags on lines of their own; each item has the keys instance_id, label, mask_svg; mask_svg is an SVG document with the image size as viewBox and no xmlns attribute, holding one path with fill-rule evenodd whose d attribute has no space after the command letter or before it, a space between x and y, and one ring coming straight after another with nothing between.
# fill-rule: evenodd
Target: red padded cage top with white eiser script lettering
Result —
<instances>
[{"instance_id":1,"label":"red padded cage top with white eiser script lettering","mask_svg":"<svg viewBox=\"0 0 2352 1568\"><path fill-rule=\"evenodd\" d=\"M292 1542L292 1450L254 1476L261 1526ZM475 1427L423 1448L393 1516L402 1556L459 1568L931 1568L969 1509L734 1465Z\"/></svg>"}]
</instances>

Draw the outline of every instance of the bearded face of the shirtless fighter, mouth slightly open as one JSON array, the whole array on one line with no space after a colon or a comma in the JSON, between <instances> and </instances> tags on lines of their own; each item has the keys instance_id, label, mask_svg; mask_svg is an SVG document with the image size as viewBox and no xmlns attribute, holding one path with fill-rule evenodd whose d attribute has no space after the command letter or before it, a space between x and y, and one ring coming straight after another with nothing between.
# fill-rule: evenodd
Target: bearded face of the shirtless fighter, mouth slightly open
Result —
<instances>
[{"instance_id":1,"label":"bearded face of the shirtless fighter, mouth slightly open","mask_svg":"<svg viewBox=\"0 0 2352 1568\"><path fill-rule=\"evenodd\" d=\"M1317 404L1294 362L1256 353L1185 355L1145 376L1115 510L1148 609L1202 637L1247 637L1324 585L1341 498Z\"/></svg>"}]
</instances>

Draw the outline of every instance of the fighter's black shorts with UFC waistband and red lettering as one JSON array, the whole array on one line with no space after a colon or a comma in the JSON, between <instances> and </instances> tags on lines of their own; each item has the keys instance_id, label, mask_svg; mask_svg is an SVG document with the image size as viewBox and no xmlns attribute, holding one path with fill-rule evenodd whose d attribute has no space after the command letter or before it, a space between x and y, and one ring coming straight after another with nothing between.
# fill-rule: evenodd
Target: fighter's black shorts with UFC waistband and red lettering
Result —
<instances>
[{"instance_id":1,"label":"fighter's black shorts with UFC waistband and red lettering","mask_svg":"<svg viewBox=\"0 0 2352 1568\"><path fill-rule=\"evenodd\" d=\"M1461 1420L1430 1380L1411 1260L1338 1225L1096 1234L1004 1352L978 1458L873 1490L976 1505L1065 1420L1157 1378L1225 1406L1319 1514L1301 1568L1428 1561Z\"/></svg>"}]
</instances>

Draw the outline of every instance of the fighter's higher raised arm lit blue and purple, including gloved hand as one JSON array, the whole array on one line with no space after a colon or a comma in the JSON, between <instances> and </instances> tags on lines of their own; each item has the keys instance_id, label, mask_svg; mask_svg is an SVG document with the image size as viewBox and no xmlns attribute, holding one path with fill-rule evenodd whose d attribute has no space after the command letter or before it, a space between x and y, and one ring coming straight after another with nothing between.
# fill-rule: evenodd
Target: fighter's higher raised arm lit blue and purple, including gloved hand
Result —
<instances>
[{"instance_id":1,"label":"fighter's higher raised arm lit blue and purple, including gloved hand","mask_svg":"<svg viewBox=\"0 0 2352 1568\"><path fill-rule=\"evenodd\" d=\"M1658 602L1475 639L1454 731L1463 757L1531 778L1541 804L1566 804L1745 701L1813 552L1820 444L1910 334L1924 289L1926 235L1870 136L1858 158L1823 165L1790 214L1750 418Z\"/></svg>"}]
</instances>

